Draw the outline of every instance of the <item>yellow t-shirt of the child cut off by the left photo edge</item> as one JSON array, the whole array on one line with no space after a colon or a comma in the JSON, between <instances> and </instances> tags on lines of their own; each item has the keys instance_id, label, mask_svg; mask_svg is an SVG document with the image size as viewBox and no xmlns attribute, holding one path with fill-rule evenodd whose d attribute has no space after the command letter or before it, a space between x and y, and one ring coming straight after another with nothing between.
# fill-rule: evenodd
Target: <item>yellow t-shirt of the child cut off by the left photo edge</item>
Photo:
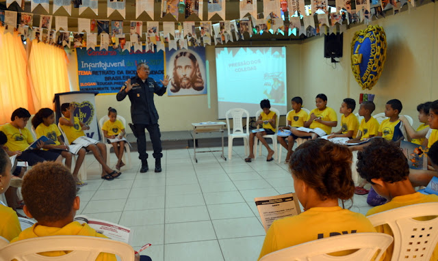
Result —
<instances>
[{"instance_id":1,"label":"yellow t-shirt of the child cut off by the left photo edge","mask_svg":"<svg viewBox=\"0 0 438 261\"><path fill-rule=\"evenodd\" d=\"M0 202L0 236L12 241L21 232L20 222L18 221L18 216L16 212L8 207L3 206Z\"/></svg>"}]
</instances>

